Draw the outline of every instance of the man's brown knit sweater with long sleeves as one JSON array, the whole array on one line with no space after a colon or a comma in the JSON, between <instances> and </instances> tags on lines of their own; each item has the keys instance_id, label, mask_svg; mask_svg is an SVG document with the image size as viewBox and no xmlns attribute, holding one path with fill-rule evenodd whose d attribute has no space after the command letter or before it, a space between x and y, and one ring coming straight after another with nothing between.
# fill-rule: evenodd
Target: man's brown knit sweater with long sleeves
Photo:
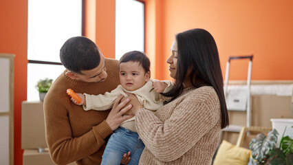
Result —
<instances>
[{"instance_id":1,"label":"man's brown knit sweater with long sleeves","mask_svg":"<svg viewBox=\"0 0 293 165\"><path fill-rule=\"evenodd\" d=\"M65 76L56 80L44 101L46 139L56 164L100 164L105 139L112 133L105 122L108 111L84 111L66 94L71 88L77 93L105 94L119 84L118 61L106 60L108 77L100 83L85 83Z\"/></svg>"}]
</instances>

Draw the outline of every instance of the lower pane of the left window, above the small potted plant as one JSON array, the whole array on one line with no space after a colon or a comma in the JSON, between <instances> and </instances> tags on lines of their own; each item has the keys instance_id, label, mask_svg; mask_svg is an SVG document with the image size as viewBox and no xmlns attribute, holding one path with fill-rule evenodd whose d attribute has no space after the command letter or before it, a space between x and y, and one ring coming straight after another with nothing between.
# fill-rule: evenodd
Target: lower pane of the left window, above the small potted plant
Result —
<instances>
[{"instance_id":1,"label":"lower pane of the left window, above the small potted plant","mask_svg":"<svg viewBox=\"0 0 293 165\"><path fill-rule=\"evenodd\" d=\"M36 83L40 79L56 78L65 70L63 65L28 64L28 101L39 101L39 91ZM65 91L66 92L66 91Z\"/></svg>"}]
</instances>

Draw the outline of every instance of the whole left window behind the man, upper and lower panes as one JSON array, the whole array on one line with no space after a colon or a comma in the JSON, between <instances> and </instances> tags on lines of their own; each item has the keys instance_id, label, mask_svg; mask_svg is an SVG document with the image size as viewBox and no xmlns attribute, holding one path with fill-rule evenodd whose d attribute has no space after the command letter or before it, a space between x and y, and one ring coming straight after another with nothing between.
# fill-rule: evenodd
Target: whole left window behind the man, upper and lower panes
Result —
<instances>
[{"instance_id":1,"label":"whole left window behind the man, upper and lower panes","mask_svg":"<svg viewBox=\"0 0 293 165\"><path fill-rule=\"evenodd\" d=\"M67 39L82 35L82 3L28 0L28 101L39 100L40 79L55 80L65 69L59 51Z\"/></svg>"}]
</instances>

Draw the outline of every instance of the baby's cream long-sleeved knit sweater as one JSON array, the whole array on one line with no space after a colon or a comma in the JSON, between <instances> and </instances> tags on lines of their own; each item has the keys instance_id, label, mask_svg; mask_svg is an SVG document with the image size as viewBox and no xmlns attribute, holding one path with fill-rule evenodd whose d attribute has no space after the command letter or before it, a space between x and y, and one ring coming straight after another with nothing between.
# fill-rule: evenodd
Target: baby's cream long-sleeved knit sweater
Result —
<instances>
[{"instance_id":1,"label":"baby's cream long-sleeved knit sweater","mask_svg":"<svg viewBox=\"0 0 293 165\"><path fill-rule=\"evenodd\" d=\"M85 95L85 100L87 102L87 106L83 106L85 111L94 109L98 111L105 111L105 109L110 109L113 107L114 100L122 94L123 96L127 96L125 93L128 92L130 94L135 94L138 98L142 106L151 111L157 111L160 107L163 106L162 100L169 101L171 98L164 97L161 94L158 94L153 90L152 84L153 82L158 80L149 80L144 84L144 86L140 87L140 89L136 89L135 91L127 91L122 87L122 85L118 85L116 89L113 89L111 92L106 92L105 94L99 95ZM163 80L162 82L167 84L167 87L164 90L164 93L170 91L172 89L173 84L169 80ZM120 126L124 127L125 129L129 129L130 131L136 132L135 125L134 125L135 116L122 122Z\"/></svg>"}]
</instances>

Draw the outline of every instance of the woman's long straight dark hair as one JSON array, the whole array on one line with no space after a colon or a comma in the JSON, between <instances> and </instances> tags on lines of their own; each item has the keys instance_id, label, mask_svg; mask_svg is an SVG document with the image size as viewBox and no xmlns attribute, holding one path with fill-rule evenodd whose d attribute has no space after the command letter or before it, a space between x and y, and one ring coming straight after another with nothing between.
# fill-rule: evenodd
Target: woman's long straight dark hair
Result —
<instances>
[{"instance_id":1,"label":"woman's long straight dark hair","mask_svg":"<svg viewBox=\"0 0 293 165\"><path fill-rule=\"evenodd\" d=\"M215 39L203 29L187 30L177 34L175 38L178 48L175 85L173 90L163 95L175 98L180 96L184 89L186 73L189 68L192 68L191 83L194 87L210 85L217 92L221 104L221 128L224 129L229 124L229 118Z\"/></svg>"}]
</instances>

